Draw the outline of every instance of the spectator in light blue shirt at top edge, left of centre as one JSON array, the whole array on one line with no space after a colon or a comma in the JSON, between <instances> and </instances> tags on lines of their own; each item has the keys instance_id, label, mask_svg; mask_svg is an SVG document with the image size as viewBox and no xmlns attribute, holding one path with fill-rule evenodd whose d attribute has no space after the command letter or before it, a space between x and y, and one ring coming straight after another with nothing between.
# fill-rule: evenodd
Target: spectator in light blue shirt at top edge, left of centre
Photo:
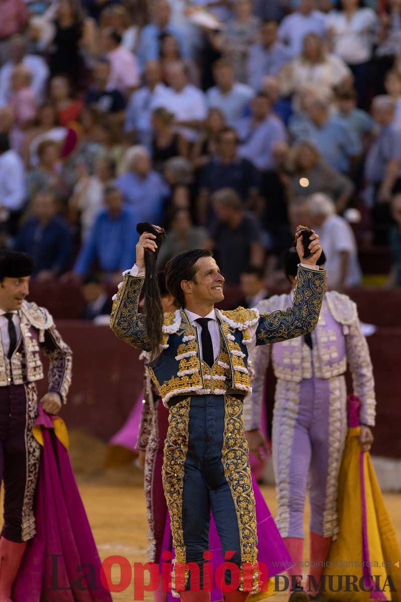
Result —
<instances>
[{"instance_id":1,"label":"spectator in light blue shirt at top edge, left of centre","mask_svg":"<svg viewBox=\"0 0 401 602\"><path fill-rule=\"evenodd\" d=\"M176 37L180 44L180 55L186 59L190 57L189 48L186 47L185 36L182 31L171 23L171 8L167 0L156 0L153 7L153 23L145 25L139 36L138 59L141 69L147 61L156 61L160 56L161 36L164 33Z\"/></svg>"}]
</instances>

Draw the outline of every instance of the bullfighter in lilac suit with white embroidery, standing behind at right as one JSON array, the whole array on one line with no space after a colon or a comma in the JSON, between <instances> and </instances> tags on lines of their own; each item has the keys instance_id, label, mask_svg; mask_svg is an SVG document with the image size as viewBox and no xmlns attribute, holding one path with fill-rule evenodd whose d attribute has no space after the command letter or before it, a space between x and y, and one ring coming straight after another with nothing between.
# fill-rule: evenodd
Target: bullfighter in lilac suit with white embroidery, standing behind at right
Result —
<instances>
[{"instance_id":1,"label":"bullfighter in lilac suit with white embroidery, standing behind at right","mask_svg":"<svg viewBox=\"0 0 401 602\"><path fill-rule=\"evenodd\" d=\"M324 262L324 254L320 262ZM287 278L295 283L295 249L284 254ZM257 309L271 312L291 303L289 294L262 300ZM311 574L320 577L331 539L338 533L337 478L347 433L347 366L352 373L354 394L362 402L361 445L369 448L375 424L375 389L366 339L361 332L355 303L336 291L326 292L316 329L273 346L257 347L253 355L257 370L249 412L259 412L266 369L272 361L277 377L272 428L272 451L277 486L277 526L299 573L303 558L303 515L307 486L311 506ZM245 420L255 420L254 417ZM308 481L308 475L310 480ZM298 565L298 568L297 568ZM312 566L312 563L311 563ZM301 588L301 586L299 586ZM325 600L316 591L317 600ZM301 591L294 599L308 598Z\"/></svg>"}]
</instances>

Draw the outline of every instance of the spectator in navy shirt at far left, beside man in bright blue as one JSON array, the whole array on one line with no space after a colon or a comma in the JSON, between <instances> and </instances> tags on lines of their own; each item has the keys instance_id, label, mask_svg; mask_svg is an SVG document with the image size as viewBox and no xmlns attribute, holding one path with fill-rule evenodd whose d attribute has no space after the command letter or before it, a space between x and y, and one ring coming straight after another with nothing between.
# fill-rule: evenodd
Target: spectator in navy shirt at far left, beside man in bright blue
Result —
<instances>
[{"instance_id":1,"label":"spectator in navy shirt at far left, beside man in bright blue","mask_svg":"<svg viewBox=\"0 0 401 602\"><path fill-rule=\"evenodd\" d=\"M44 282L66 271L72 252L67 223L57 213L54 193L42 190L32 202L32 217L20 228L14 248L35 261L34 277Z\"/></svg>"}]
</instances>

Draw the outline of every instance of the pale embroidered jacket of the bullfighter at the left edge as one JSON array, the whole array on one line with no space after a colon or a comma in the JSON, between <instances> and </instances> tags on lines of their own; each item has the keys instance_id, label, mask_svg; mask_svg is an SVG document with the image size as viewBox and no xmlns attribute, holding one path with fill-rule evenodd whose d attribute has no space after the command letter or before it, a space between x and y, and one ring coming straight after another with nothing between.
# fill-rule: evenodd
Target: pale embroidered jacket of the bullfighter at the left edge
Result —
<instances>
[{"instance_id":1,"label":"pale embroidered jacket of the bullfighter at the left edge","mask_svg":"<svg viewBox=\"0 0 401 602\"><path fill-rule=\"evenodd\" d=\"M22 385L43 379L40 350L49 356L49 391L66 403L71 382L72 351L64 343L47 309L23 301L19 311L21 336L11 359L0 344L0 386ZM0 335L1 343L1 335Z\"/></svg>"}]
</instances>

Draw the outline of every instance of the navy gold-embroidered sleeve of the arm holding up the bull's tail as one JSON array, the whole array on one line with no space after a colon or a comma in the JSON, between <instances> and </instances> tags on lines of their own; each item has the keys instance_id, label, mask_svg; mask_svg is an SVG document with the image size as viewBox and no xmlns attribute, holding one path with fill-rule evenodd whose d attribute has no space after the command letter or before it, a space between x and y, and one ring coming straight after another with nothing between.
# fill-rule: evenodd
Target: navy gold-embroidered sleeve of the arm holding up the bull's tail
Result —
<instances>
[{"instance_id":1,"label":"navy gold-embroidered sleeve of the arm holding up the bull's tail","mask_svg":"<svg viewBox=\"0 0 401 602\"><path fill-rule=\"evenodd\" d=\"M144 278L124 275L111 311L110 327L125 343L150 351L145 332L144 315L138 313L139 296Z\"/></svg>"}]
</instances>

